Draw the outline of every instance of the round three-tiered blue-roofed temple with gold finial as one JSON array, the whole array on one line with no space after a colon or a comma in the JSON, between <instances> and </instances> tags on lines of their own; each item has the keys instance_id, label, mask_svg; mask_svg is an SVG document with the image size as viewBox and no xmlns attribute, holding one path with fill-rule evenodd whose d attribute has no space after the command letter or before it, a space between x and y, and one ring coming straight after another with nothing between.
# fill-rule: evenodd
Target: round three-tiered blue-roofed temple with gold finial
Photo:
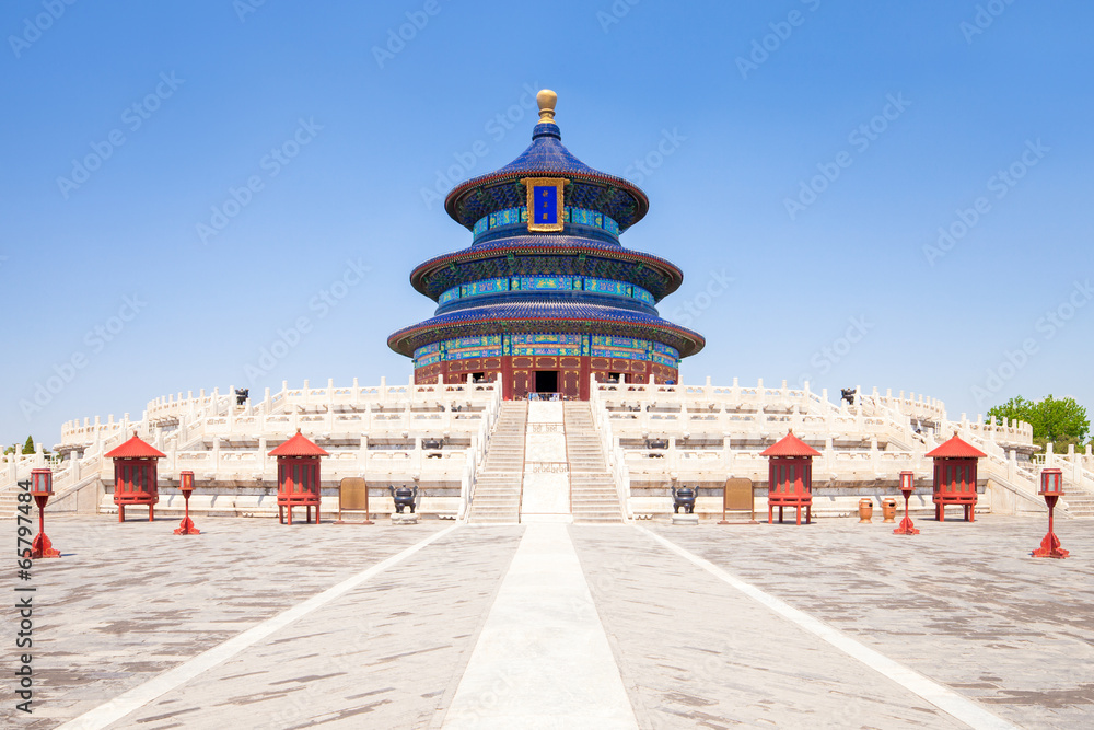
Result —
<instances>
[{"instance_id":1,"label":"round three-tiered blue-roofed temple with gold finial","mask_svg":"<svg viewBox=\"0 0 1094 730\"><path fill-rule=\"evenodd\" d=\"M505 399L587 401L593 379L678 383L680 359L705 340L662 320L656 305L683 273L619 243L649 199L563 147L555 92L536 100L532 144L449 193L445 210L472 232L472 245L414 269L410 283L437 311L388 346L414 358L416 383L500 376Z\"/></svg>"}]
</instances>

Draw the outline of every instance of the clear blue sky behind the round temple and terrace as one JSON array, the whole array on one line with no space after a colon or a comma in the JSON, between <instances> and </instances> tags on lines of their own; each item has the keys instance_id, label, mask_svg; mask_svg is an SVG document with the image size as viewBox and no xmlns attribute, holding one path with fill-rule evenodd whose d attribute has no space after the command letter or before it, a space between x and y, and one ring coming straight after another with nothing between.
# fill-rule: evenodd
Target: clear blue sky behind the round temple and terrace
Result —
<instances>
[{"instance_id":1,"label":"clear blue sky behind the round temple and terrace","mask_svg":"<svg viewBox=\"0 0 1094 730\"><path fill-rule=\"evenodd\" d=\"M0 441L405 381L409 271L470 243L429 190L520 154L545 86L650 196L622 243L684 269L684 382L1094 412L1091 3L631 2L3 3Z\"/></svg>"}]
</instances>

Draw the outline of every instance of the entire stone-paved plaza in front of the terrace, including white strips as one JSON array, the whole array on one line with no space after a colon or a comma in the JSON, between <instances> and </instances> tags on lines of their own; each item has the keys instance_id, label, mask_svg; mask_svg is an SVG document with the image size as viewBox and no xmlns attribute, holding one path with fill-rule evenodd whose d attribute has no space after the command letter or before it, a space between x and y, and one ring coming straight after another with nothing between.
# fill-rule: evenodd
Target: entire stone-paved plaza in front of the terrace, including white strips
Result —
<instances>
[{"instance_id":1,"label":"entire stone-paved plaza in front of the terrace, including white strips","mask_svg":"<svg viewBox=\"0 0 1094 730\"><path fill-rule=\"evenodd\" d=\"M174 526L48 521L0 725L1094 726L1090 521Z\"/></svg>"}]
</instances>

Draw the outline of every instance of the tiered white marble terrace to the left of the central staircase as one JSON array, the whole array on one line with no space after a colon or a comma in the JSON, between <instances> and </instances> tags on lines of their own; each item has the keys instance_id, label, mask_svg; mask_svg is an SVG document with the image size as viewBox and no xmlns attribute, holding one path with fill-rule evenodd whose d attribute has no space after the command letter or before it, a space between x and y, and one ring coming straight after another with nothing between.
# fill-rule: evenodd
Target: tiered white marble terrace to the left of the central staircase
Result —
<instances>
[{"instance_id":1,"label":"tiered white marble terrace to the left of the central staircase","mask_svg":"<svg viewBox=\"0 0 1094 730\"><path fill-rule=\"evenodd\" d=\"M338 507L344 477L370 483L373 512L394 506L387 485L421 487L423 513L463 517L476 468L501 404L496 384L387 385L267 389L260 398L236 405L234 389L156 398L140 419L126 414L105 420L66 422L55 468L53 511L114 512L113 460L103 454L133 432L166 454L159 462L158 512L182 509L178 473L193 471L197 488L190 510L201 513L277 513L277 460L269 451L300 429L330 452L323 460L323 510ZM0 465L0 511L7 514L16 479L46 465L40 453ZM11 493L11 494L5 494ZM90 502L90 503L89 503ZM130 519L143 510L129 510Z\"/></svg>"}]
</instances>

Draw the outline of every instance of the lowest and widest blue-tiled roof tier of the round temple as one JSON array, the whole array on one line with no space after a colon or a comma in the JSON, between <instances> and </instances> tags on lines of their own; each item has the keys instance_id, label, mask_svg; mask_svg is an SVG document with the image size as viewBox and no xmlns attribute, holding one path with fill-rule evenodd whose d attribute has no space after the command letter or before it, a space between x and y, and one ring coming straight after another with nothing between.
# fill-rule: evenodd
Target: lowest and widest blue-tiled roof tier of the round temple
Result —
<instances>
[{"instance_id":1,"label":"lowest and widest blue-tiled roof tier of the round temple","mask_svg":"<svg viewBox=\"0 0 1094 730\"><path fill-rule=\"evenodd\" d=\"M405 327L387 338L400 355L430 343L492 333L572 332L640 337L663 343L680 357L702 349L702 335L661 317L602 304L544 298L527 302L502 302L440 314Z\"/></svg>"}]
</instances>

